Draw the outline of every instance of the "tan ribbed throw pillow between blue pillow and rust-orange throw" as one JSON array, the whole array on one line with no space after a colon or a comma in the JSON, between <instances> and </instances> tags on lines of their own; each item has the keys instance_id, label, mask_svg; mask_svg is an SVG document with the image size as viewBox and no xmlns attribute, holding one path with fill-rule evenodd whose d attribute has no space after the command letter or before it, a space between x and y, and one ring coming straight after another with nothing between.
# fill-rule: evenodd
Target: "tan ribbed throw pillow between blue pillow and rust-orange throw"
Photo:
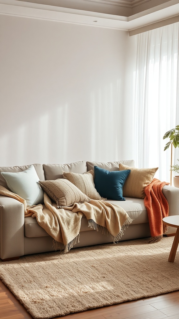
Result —
<instances>
[{"instance_id":1,"label":"tan ribbed throw pillow between blue pillow and rust-orange throw","mask_svg":"<svg viewBox=\"0 0 179 319\"><path fill-rule=\"evenodd\" d=\"M123 186L124 197L144 198L145 187L150 184L154 178L158 167L155 168L135 168L119 164L119 171L130 169Z\"/></svg>"}]
</instances>

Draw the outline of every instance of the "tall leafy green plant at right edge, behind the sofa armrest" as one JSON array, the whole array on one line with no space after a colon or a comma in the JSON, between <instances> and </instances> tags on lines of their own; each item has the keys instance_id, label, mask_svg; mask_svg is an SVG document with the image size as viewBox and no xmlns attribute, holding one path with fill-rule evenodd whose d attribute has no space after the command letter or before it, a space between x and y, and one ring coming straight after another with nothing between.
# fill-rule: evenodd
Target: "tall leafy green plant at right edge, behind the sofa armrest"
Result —
<instances>
[{"instance_id":1,"label":"tall leafy green plant at right edge, behind the sofa armrest","mask_svg":"<svg viewBox=\"0 0 179 319\"><path fill-rule=\"evenodd\" d=\"M171 167L170 168L170 171L171 171L171 174L170 174L170 185L171 185L172 184L172 171L174 171L174 172L179 174L179 171L178 171L179 165L178 164L172 165L172 145L175 148L179 147L179 125L176 125L174 129L167 131L165 133L163 139L165 139L165 138L169 138L170 140L165 145L164 151L166 151L169 148L169 146L171 145L171 165L170 165L170 167ZM178 182L178 184L179 184L179 182ZM179 186L176 186L176 187L179 187Z\"/></svg>"}]
</instances>

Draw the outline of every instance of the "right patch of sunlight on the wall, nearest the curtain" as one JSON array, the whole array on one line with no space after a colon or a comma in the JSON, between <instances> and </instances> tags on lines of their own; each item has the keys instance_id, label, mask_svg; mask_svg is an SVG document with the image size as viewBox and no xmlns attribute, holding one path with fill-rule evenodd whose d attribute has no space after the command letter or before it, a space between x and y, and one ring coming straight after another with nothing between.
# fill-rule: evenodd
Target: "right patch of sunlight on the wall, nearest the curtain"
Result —
<instances>
[{"instance_id":1,"label":"right patch of sunlight on the wall, nearest the curtain","mask_svg":"<svg viewBox=\"0 0 179 319\"><path fill-rule=\"evenodd\" d=\"M91 157L97 161L119 159L120 81L91 92ZM105 152L104 152L105 150Z\"/></svg>"}]
</instances>

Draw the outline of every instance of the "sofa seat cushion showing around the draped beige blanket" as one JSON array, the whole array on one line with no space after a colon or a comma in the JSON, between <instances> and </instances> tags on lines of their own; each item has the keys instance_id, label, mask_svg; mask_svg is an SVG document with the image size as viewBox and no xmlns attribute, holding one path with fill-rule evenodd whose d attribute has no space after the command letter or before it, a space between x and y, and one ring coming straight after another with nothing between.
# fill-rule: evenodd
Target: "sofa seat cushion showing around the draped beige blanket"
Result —
<instances>
[{"instance_id":1,"label":"sofa seat cushion showing around the draped beige blanket","mask_svg":"<svg viewBox=\"0 0 179 319\"><path fill-rule=\"evenodd\" d=\"M125 201L108 200L111 204L116 204L124 208L129 217L133 220L132 224L148 223L147 210L144 205L144 200L140 198L125 198ZM93 230L88 226L88 221L83 215L81 220L80 232ZM26 237L41 237L49 236L47 232L39 226L36 218L25 217L25 236Z\"/></svg>"}]
</instances>

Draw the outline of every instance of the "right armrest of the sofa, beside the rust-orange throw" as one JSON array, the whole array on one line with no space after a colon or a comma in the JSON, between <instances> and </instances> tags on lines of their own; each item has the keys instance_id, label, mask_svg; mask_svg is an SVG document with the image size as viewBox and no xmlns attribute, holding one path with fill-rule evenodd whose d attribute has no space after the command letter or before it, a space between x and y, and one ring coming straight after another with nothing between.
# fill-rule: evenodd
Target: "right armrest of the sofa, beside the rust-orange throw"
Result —
<instances>
[{"instance_id":1,"label":"right armrest of the sofa, beside the rust-orange throw","mask_svg":"<svg viewBox=\"0 0 179 319\"><path fill-rule=\"evenodd\" d=\"M164 194L165 198L168 201L169 211L168 215L179 215L179 188L173 187L170 185L165 185L162 189L162 193ZM175 227L170 227L166 235L175 234L176 233Z\"/></svg>"}]
</instances>

